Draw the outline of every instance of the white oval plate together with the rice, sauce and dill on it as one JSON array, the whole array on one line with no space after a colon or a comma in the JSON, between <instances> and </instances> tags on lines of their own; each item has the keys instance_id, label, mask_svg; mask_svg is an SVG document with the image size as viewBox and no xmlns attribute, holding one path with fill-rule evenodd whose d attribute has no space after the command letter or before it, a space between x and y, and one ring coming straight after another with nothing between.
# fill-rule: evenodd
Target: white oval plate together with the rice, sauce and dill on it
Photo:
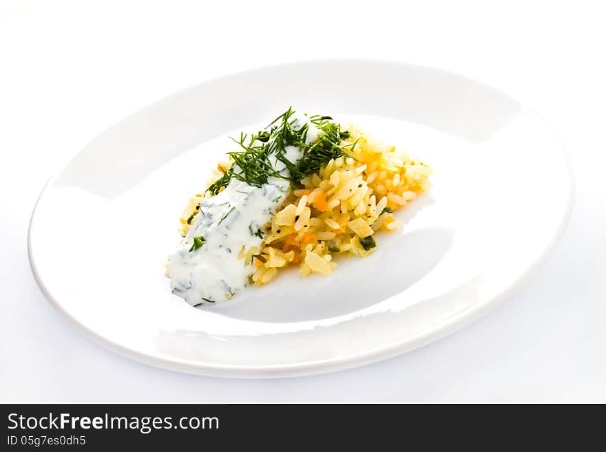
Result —
<instances>
[{"instance_id":1,"label":"white oval plate together with the rice, sauce and dill on it","mask_svg":"<svg viewBox=\"0 0 606 452\"><path fill-rule=\"evenodd\" d=\"M540 116L485 83L275 65L101 133L41 193L28 253L45 297L119 354L317 374L408 352L506 299L561 237L571 174Z\"/></svg>"}]
</instances>

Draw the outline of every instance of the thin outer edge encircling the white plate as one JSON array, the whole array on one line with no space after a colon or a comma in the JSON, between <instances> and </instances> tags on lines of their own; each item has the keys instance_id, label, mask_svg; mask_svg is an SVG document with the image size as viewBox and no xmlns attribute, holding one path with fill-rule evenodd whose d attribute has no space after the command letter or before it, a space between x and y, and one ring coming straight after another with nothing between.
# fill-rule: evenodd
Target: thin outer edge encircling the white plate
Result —
<instances>
[{"instance_id":1,"label":"thin outer edge encircling the white plate","mask_svg":"<svg viewBox=\"0 0 606 452\"><path fill-rule=\"evenodd\" d=\"M160 358L158 356L150 356L149 354L145 354L143 352L138 352L135 349L131 349L129 347L125 347L118 342L112 341L101 334L90 330L90 328L86 327L81 321L76 319L76 317L72 316L70 312L63 308L63 305L59 303L57 299L55 299L49 290L45 287L41 276L36 268L35 259L32 253L32 224L34 222L34 216L36 215L36 210L40 200L43 195L48 190L49 186L56 180L61 174L61 171L67 167L72 160L79 155L85 147L87 147L90 143L94 142L98 137L102 136L104 133L113 129L117 125L122 122L127 121L132 116L136 116L141 111L145 109L149 109L158 103L162 103L166 100L174 98L176 96L180 96L185 94L190 89L195 89L196 87L206 84L212 83L215 80L225 80L235 76L242 76L246 74L251 74L254 72L260 72L268 69L276 69L280 67L293 66L293 65L301 65L301 64L315 64L315 63L341 63L341 64L384 64L384 65L395 65L399 67L408 67L408 68L424 68L431 69L437 72L442 72L445 74L449 74L452 76L457 76L459 78L463 78L473 83L477 83L479 85L483 85L484 87L490 87L490 89L494 89L499 92L499 94L506 96L512 100L514 100L511 96L506 93L503 93L500 89L492 87L487 83L483 83L479 80L475 80L474 78L470 78L468 76L464 76L462 74L457 74L456 72L451 72L448 69L442 69L441 67L431 67L426 65L417 65L411 63L403 63L400 61L390 61L387 59L379 59L379 58L317 58L310 60L302 60L302 61L290 61L286 63L276 63L271 65L262 65L258 67L253 67L251 69L244 69L236 72L229 72L228 74L208 78L203 80L200 83L196 83L195 85L191 85L186 87L185 89L180 89L176 92L169 94L168 96L164 96L159 98L158 100L154 100L154 102L148 103L143 107L140 107L133 111L130 114L127 114L121 120L112 123L109 127L106 127L98 133L92 140L87 142L85 146L79 149L71 158L61 166L61 170L57 171L57 173L50 177L50 179L46 182L41 190L39 196L36 199L36 203L34 204L34 208L32 209L32 213L30 215L30 221L28 224L28 261L30 263L30 268L32 270L32 275L34 276L34 280L36 281L37 286L40 288L43 296L48 302L59 310L63 316L65 316L68 320L70 320L75 326L76 329L83 334L83 336L89 338L94 343L103 346L105 349L109 349L112 352L123 356L125 358L129 358L137 361L138 363L143 363L146 365L150 365L153 367L159 367L163 369L169 369L174 372L181 372L185 374L193 374L198 376L213 376L213 377L222 377L222 378L285 378L285 377L295 377L295 376L309 376L315 374L325 374L328 372L338 372L344 369L351 369L353 367L359 367L362 365L376 363L380 360L385 360L388 358L393 358L395 356L399 356L401 354L405 354L408 352L412 352L412 350L423 347L424 345L428 345L433 341L437 341L449 334L457 332L458 330L463 329L467 325L470 325L474 321L477 321L485 314L492 312L497 306L499 306L505 299L508 299L512 296L516 290L525 282L527 279L541 266L543 261L547 259L547 257L554 251L558 243L561 241L568 224L570 224L570 218L572 217L572 211L574 207L574 197L575 197L575 179L574 179L574 169L572 166L572 160L570 155L568 155L565 147L563 146L560 138L557 136L554 129L551 127L549 122L541 116L538 112L533 109L528 109L525 105L520 104L525 111L532 111L533 114L539 118L539 120L549 129L552 138L554 138L555 142L558 144L558 149L561 153L561 156L564 159L565 166L567 168L567 200L565 202L565 208L563 209L563 215L560 219L560 223L556 228L552 239L545 248L537 255L530 263L530 266L527 267L526 272L519 275L517 279L505 290L492 297L492 299L487 299L484 303L482 303L477 308L473 310L464 312L463 314L458 314L457 316L452 317L449 321L446 321L439 327L434 330L430 330L428 332L424 332L420 336L416 336L415 338L401 341L398 343L392 343L389 345L385 345L383 347L377 347L375 349L371 349L367 352L361 352L358 354L352 354L348 356L342 356L339 358L326 358L323 360L313 360L304 363L295 363L295 364L286 364L286 365L213 365L211 363L191 363L185 360L180 360L178 358ZM514 100L517 102L517 100Z\"/></svg>"}]
</instances>

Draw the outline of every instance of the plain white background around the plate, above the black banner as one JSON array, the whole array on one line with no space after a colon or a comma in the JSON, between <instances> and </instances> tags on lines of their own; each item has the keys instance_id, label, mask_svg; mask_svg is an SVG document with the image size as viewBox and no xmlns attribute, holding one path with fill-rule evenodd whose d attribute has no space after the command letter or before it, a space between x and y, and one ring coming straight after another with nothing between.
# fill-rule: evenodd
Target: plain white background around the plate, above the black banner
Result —
<instances>
[{"instance_id":1,"label":"plain white background around the plate, above the black banner","mask_svg":"<svg viewBox=\"0 0 606 452\"><path fill-rule=\"evenodd\" d=\"M600 3L1 1L0 402L606 402ZM226 380L117 356L45 301L28 265L28 219L70 156L171 92L249 67L333 56L449 69L552 125L574 164L572 220L503 305L382 363Z\"/></svg>"}]
</instances>

